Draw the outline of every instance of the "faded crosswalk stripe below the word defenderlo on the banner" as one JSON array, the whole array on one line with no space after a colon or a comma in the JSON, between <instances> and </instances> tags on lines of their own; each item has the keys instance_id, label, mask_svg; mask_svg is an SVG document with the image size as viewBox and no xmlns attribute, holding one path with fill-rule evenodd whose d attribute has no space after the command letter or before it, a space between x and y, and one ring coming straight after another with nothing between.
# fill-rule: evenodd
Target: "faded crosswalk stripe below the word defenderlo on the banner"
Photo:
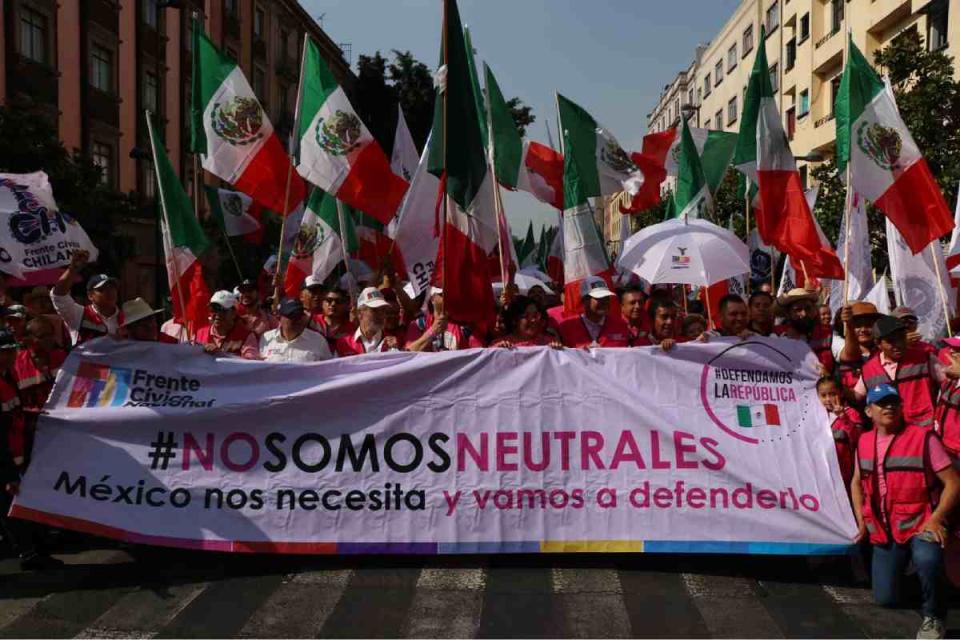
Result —
<instances>
[{"instance_id":1,"label":"faded crosswalk stripe below the word defenderlo on the banner","mask_svg":"<svg viewBox=\"0 0 960 640\"><path fill-rule=\"evenodd\" d=\"M753 580L693 573L684 573L682 577L712 637L783 637L783 632L757 599Z\"/></svg>"}]
</instances>

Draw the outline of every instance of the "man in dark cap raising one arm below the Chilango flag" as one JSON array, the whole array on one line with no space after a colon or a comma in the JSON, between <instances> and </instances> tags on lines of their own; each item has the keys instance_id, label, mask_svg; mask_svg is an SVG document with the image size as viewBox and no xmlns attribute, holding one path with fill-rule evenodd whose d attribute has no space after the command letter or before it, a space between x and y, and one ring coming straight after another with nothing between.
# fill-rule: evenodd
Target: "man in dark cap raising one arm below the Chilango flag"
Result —
<instances>
[{"instance_id":1,"label":"man in dark cap raising one arm below the Chilango flag","mask_svg":"<svg viewBox=\"0 0 960 640\"><path fill-rule=\"evenodd\" d=\"M70 265L50 291L53 308L70 330L74 345L93 338L116 335L123 324L123 313L117 306L116 278L103 273L91 276L87 280L87 299L90 304L86 306L80 306L70 296L74 280L89 259L90 254L87 251L75 251L70 256Z\"/></svg>"}]
</instances>

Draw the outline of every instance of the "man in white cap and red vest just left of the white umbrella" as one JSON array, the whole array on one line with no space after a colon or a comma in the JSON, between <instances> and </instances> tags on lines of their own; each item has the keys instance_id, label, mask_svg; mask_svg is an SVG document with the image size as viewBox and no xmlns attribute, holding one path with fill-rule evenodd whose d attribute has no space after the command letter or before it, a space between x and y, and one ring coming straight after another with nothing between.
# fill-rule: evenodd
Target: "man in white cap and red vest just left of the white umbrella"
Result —
<instances>
[{"instance_id":1,"label":"man in white cap and red vest just left of the white umbrella","mask_svg":"<svg viewBox=\"0 0 960 640\"><path fill-rule=\"evenodd\" d=\"M584 278L580 283L583 313L560 322L560 339L564 346L626 347L630 344L630 329L621 317L610 313L610 298L616 294L599 276Z\"/></svg>"}]
</instances>

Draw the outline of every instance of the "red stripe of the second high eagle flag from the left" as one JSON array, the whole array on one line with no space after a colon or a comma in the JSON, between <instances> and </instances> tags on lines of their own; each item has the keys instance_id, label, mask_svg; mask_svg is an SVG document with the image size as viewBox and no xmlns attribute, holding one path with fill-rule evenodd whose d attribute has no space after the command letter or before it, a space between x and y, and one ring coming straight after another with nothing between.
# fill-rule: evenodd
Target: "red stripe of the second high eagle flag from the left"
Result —
<instances>
[{"instance_id":1,"label":"red stripe of the second high eagle flag from the left","mask_svg":"<svg viewBox=\"0 0 960 640\"><path fill-rule=\"evenodd\" d=\"M383 149L375 142L350 160L350 173L337 189L337 198L383 224L389 223L410 185L393 173Z\"/></svg>"}]
</instances>

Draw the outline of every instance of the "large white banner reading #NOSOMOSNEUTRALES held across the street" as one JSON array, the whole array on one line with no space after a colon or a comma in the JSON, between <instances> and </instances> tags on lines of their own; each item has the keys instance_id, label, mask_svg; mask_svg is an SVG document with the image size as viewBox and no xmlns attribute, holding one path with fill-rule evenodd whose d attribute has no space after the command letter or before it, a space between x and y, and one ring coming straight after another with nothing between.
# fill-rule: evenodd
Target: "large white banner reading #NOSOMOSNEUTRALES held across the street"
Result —
<instances>
[{"instance_id":1,"label":"large white banner reading #NOSOMOSNEUTRALES held across the street","mask_svg":"<svg viewBox=\"0 0 960 640\"><path fill-rule=\"evenodd\" d=\"M816 362L788 339L310 364L74 351L12 514L289 553L841 553Z\"/></svg>"}]
</instances>

